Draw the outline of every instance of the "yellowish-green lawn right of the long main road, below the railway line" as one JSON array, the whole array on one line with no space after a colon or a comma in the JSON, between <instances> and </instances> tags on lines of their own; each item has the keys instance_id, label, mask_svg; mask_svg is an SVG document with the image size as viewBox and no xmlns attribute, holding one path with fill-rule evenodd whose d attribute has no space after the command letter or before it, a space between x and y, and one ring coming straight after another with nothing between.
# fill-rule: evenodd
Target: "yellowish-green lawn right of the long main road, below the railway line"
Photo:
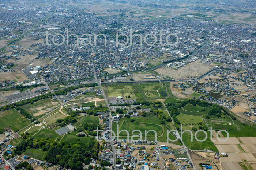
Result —
<instances>
[{"instance_id":1,"label":"yellowish-green lawn right of the long main road, below the railway line","mask_svg":"<svg viewBox=\"0 0 256 170\"><path fill-rule=\"evenodd\" d=\"M108 97L118 97L118 96L122 96L122 94L125 94L125 93L130 94L131 92L134 92L136 90L136 87L134 87L133 85L119 85L119 86L109 86L106 89L108 91Z\"/></svg>"}]
</instances>

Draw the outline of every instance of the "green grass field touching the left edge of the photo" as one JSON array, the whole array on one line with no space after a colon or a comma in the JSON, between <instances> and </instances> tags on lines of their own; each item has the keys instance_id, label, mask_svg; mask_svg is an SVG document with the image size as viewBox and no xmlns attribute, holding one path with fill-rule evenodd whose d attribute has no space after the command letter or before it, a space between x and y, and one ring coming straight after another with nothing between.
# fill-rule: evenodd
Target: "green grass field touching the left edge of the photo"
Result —
<instances>
[{"instance_id":1,"label":"green grass field touching the left edge of the photo","mask_svg":"<svg viewBox=\"0 0 256 170\"><path fill-rule=\"evenodd\" d=\"M0 129L11 127L13 131L18 131L30 123L29 120L14 108L0 112Z\"/></svg>"}]
</instances>

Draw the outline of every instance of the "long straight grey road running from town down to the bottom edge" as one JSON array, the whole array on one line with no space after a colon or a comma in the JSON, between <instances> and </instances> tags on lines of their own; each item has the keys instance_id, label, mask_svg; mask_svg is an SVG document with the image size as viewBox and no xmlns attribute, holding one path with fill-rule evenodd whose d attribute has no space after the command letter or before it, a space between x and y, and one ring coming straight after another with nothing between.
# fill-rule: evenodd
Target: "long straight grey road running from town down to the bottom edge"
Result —
<instances>
[{"instance_id":1,"label":"long straight grey road running from town down to the bottom edge","mask_svg":"<svg viewBox=\"0 0 256 170\"><path fill-rule=\"evenodd\" d=\"M103 87L101 86L101 80L98 80L97 79L97 76L96 76L96 72L95 72L95 62L93 63L93 74L94 74L94 79L95 79L95 82L99 84L99 87L101 88L101 91L102 91L102 94L104 96L104 99L105 99L105 102L106 102L106 106L108 107L109 109L109 130L112 130L112 116L111 116L111 111L110 111L110 107L109 107L109 103L108 103L108 100L107 100L107 96L105 94L105 91L103 89ZM112 137L112 133L110 131L110 145L111 145L111 148L112 148L112 151L113 151L113 166L114 168L116 168L116 150L115 150L115 147L114 147L114 143L113 143L113 140L111 139Z\"/></svg>"}]
</instances>

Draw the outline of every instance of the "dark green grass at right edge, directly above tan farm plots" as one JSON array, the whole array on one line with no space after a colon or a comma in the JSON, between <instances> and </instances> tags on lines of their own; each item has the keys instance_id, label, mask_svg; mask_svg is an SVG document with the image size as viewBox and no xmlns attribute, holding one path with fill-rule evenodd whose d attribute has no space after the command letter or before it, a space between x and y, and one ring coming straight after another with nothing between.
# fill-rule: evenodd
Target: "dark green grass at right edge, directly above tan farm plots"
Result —
<instances>
[{"instance_id":1,"label":"dark green grass at right edge, directly above tan farm plots","mask_svg":"<svg viewBox=\"0 0 256 170\"><path fill-rule=\"evenodd\" d=\"M256 128L244 125L241 122L234 120L237 130L229 130L229 137L256 137ZM227 137L225 132L221 132L224 137Z\"/></svg>"}]
</instances>

